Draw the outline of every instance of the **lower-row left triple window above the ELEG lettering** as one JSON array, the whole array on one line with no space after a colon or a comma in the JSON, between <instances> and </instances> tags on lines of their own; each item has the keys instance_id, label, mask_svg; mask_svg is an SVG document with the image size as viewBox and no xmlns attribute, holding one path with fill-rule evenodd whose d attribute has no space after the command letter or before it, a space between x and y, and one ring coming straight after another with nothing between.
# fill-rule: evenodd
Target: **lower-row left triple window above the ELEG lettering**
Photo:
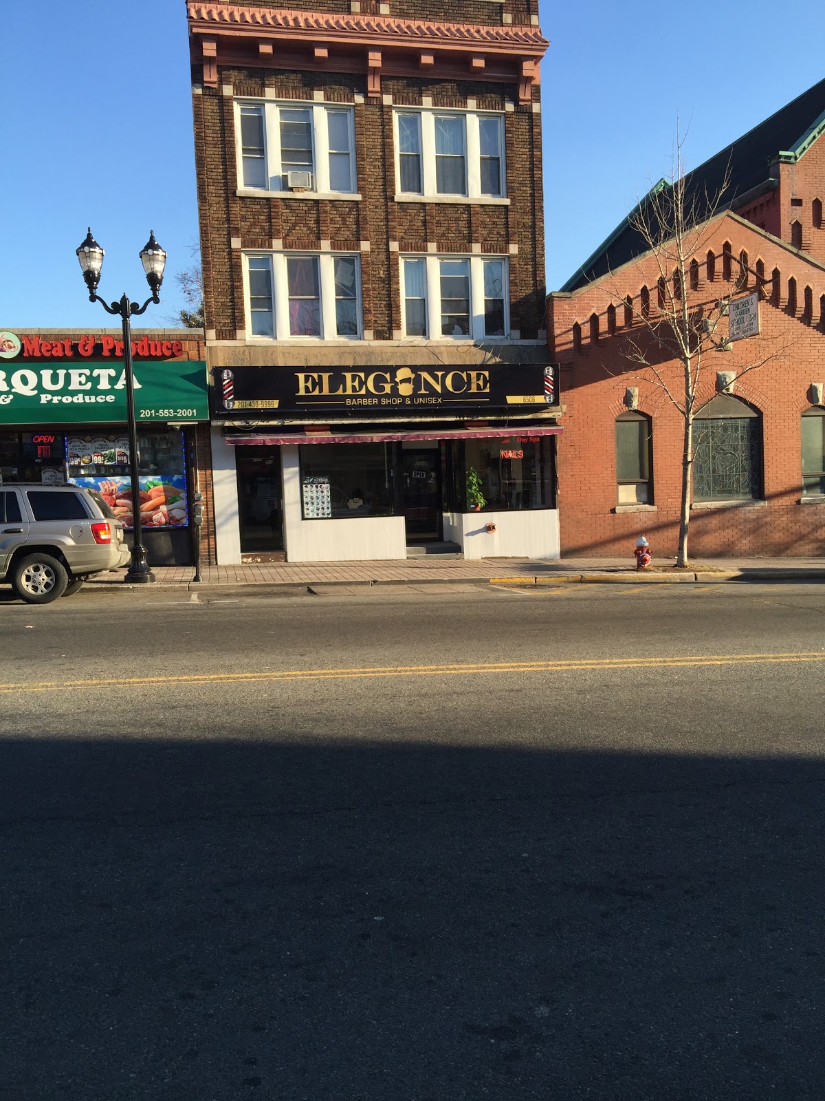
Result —
<instances>
[{"instance_id":1,"label":"lower-row left triple window above the ELEG lettering","mask_svg":"<svg viewBox=\"0 0 825 1101\"><path fill-rule=\"evenodd\" d=\"M361 337L359 266L359 257L332 253L248 255L250 336Z\"/></svg>"}]
</instances>

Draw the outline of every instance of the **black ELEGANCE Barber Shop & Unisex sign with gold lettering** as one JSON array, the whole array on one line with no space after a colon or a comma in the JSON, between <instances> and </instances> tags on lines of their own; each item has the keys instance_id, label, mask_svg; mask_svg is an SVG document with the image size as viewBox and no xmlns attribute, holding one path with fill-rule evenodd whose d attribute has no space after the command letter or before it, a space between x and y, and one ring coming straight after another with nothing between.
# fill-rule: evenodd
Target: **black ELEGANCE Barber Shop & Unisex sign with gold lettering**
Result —
<instances>
[{"instance_id":1,"label":"black ELEGANCE Barber Shop & Unisex sign with gold lettering","mask_svg":"<svg viewBox=\"0 0 825 1101\"><path fill-rule=\"evenodd\" d=\"M447 367L235 367L215 371L215 414L253 417L316 411L363 416L547 407L559 402L557 363Z\"/></svg>"}]
</instances>

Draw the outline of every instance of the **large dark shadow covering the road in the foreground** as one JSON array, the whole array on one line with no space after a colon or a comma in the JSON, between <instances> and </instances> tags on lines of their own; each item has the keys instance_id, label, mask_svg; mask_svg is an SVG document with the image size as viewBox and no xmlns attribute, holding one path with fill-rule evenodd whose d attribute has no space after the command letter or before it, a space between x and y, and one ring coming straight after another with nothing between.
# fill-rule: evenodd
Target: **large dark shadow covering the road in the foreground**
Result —
<instances>
[{"instance_id":1,"label":"large dark shadow covering the road in the foreground","mask_svg":"<svg viewBox=\"0 0 825 1101\"><path fill-rule=\"evenodd\" d=\"M0 1097L822 1097L823 762L2 752Z\"/></svg>"}]
</instances>

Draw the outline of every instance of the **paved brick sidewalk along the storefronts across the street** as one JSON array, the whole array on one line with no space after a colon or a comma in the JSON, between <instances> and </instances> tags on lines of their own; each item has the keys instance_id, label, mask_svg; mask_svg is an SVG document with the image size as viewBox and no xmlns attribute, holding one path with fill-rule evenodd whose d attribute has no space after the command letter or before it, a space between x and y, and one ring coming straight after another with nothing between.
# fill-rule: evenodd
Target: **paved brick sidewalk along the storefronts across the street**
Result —
<instances>
[{"instance_id":1,"label":"paved brick sidewalk along the storefronts across the street","mask_svg":"<svg viewBox=\"0 0 825 1101\"><path fill-rule=\"evenodd\" d=\"M518 586L559 582L714 582L739 580L825 580L825 558L707 558L689 570L673 569L669 559L654 559L652 573L637 573L632 560L619 558L406 558L394 562L244 563L204 566L194 582L191 566L153 566L158 585L191 589L226 585L427 585L451 581ZM123 585L125 568L98 574L89 585ZM129 586L131 589L132 586Z\"/></svg>"}]
</instances>

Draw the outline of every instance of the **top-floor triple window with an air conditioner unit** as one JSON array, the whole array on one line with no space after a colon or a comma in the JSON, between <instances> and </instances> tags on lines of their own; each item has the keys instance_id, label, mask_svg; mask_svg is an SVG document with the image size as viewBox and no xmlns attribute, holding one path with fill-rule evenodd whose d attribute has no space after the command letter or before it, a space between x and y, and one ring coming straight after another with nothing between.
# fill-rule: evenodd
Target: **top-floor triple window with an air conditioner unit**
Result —
<instances>
[{"instance_id":1,"label":"top-floor triple window with an air conditioner unit","mask_svg":"<svg viewBox=\"0 0 825 1101\"><path fill-rule=\"evenodd\" d=\"M235 133L240 187L295 194L355 190L351 107L240 100Z\"/></svg>"}]
</instances>

